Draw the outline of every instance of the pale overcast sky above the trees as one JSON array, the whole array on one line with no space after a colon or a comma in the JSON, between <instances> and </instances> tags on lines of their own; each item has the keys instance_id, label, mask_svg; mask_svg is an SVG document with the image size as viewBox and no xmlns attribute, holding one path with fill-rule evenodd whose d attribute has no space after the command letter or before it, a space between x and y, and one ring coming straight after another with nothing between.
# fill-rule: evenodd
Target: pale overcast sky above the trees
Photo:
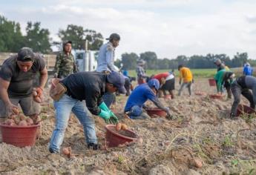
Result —
<instances>
[{"instance_id":1,"label":"pale overcast sky above the trees","mask_svg":"<svg viewBox=\"0 0 256 175\"><path fill-rule=\"evenodd\" d=\"M119 33L122 53L154 51L178 55L249 53L256 59L255 0L0 0L0 14L19 22L41 22L53 40L68 24Z\"/></svg>"}]
</instances>

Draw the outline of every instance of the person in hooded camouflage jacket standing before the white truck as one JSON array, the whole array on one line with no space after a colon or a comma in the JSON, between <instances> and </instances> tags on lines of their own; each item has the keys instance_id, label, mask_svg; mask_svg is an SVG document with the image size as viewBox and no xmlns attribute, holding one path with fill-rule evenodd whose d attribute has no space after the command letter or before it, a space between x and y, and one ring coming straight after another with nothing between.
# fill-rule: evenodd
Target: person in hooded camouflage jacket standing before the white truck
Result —
<instances>
[{"instance_id":1,"label":"person in hooded camouflage jacket standing before the white truck","mask_svg":"<svg viewBox=\"0 0 256 175\"><path fill-rule=\"evenodd\" d=\"M71 73L78 72L76 67L75 59L73 58L73 54L71 53L72 50L72 42L64 42L63 43L63 50L59 52L56 57L56 63L54 70L56 73L54 77L59 79L64 79L66 76L70 75Z\"/></svg>"}]
</instances>

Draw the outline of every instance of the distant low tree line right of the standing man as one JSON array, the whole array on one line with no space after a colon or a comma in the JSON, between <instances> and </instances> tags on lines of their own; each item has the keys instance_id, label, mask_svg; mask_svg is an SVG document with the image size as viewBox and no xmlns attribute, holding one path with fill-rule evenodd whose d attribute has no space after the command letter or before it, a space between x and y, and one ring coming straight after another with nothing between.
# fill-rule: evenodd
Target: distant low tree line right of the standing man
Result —
<instances>
[{"instance_id":1,"label":"distant low tree line right of the standing man","mask_svg":"<svg viewBox=\"0 0 256 175\"><path fill-rule=\"evenodd\" d=\"M231 59L226 54L207 54L206 56L177 56L175 59L158 59L157 54L151 51L140 53L123 53L121 60L116 61L116 65L123 65L123 69L133 70L137 67L138 60L144 60L147 69L177 69L178 65L185 65L192 69L214 68L214 59L220 59L228 67L243 67L244 63L256 66L256 60L249 59L247 53L236 53Z\"/></svg>"}]
</instances>

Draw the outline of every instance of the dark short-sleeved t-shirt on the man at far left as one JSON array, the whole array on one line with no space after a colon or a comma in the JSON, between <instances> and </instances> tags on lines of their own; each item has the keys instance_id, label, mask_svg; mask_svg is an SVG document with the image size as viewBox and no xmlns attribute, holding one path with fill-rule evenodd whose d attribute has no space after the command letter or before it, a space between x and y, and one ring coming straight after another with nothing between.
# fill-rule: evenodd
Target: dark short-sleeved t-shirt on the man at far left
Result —
<instances>
[{"instance_id":1,"label":"dark short-sleeved t-shirt on the man at far left","mask_svg":"<svg viewBox=\"0 0 256 175\"><path fill-rule=\"evenodd\" d=\"M31 69L27 72L22 72L17 65L17 56L11 56L9 59L6 59L0 70L1 79L10 82L7 92L11 98L30 96L36 73L45 68L44 59L39 54L35 54L35 61Z\"/></svg>"}]
</instances>

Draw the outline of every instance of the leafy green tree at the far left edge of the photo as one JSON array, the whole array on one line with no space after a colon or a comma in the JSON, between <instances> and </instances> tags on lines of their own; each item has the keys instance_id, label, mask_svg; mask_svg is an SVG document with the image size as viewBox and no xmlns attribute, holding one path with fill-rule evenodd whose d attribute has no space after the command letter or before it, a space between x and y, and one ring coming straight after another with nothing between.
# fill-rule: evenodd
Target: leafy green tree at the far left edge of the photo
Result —
<instances>
[{"instance_id":1,"label":"leafy green tree at the far left edge of the photo","mask_svg":"<svg viewBox=\"0 0 256 175\"><path fill-rule=\"evenodd\" d=\"M8 21L4 16L0 16L0 51L18 52L23 44L24 37L19 23Z\"/></svg>"}]
</instances>

